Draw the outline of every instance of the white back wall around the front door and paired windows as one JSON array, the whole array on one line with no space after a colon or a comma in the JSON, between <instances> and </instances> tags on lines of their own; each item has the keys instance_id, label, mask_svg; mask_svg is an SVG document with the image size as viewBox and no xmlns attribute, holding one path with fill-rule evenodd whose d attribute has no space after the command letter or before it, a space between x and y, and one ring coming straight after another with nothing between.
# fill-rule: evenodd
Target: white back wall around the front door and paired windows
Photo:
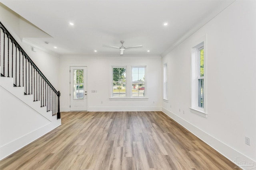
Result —
<instances>
[{"instance_id":1,"label":"white back wall around the front door and paired windows","mask_svg":"<svg viewBox=\"0 0 256 170\"><path fill-rule=\"evenodd\" d=\"M59 72L61 111L70 111L70 66L87 66L88 111L161 110L162 70L159 69L161 67L160 56L62 56ZM110 100L112 66L127 66L127 72L131 66L146 66L146 97L148 99ZM97 90L97 93L93 93L91 90Z\"/></svg>"}]
</instances>

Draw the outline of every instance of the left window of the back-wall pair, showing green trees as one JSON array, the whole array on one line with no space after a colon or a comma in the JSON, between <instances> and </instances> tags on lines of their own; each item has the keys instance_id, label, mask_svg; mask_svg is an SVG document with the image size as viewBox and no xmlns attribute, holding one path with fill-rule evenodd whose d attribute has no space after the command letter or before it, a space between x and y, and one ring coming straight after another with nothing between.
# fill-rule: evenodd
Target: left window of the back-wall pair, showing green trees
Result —
<instances>
[{"instance_id":1,"label":"left window of the back-wall pair, showing green trees","mask_svg":"<svg viewBox=\"0 0 256 170\"><path fill-rule=\"evenodd\" d=\"M126 67L112 67L112 97L126 97Z\"/></svg>"}]
</instances>

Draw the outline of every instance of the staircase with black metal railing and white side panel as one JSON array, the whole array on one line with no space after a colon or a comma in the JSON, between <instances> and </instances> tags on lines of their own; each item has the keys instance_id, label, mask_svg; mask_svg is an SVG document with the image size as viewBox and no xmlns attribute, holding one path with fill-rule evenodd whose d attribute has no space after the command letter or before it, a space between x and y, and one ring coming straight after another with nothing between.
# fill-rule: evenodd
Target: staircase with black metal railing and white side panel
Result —
<instances>
[{"instance_id":1,"label":"staircase with black metal railing and white side panel","mask_svg":"<svg viewBox=\"0 0 256 170\"><path fill-rule=\"evenodd\" d=\"M0 160L61 124L60 92L0 22Z\"/></svg>"}]
</instances>

